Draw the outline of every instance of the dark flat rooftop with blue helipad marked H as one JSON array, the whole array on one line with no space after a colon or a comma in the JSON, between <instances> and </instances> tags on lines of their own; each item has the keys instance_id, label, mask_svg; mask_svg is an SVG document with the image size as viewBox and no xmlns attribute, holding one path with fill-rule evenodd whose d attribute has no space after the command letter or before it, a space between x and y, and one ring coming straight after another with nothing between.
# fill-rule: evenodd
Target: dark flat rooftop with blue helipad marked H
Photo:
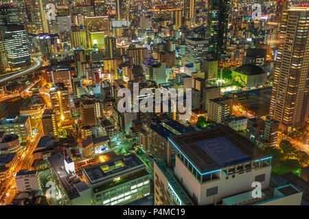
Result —
<instances>
[{"instance_id":1,"label":"dark flat rooftop with blue helipad marked H","mask_svg":"<svg viewBox=\"0 0 309 219\"><path fill-rule=\"evenodd\" d=\"M170 137L172 145L200 174L226 166L271 158L230 127L214 127Z\"/></svg>"}]
</instances>

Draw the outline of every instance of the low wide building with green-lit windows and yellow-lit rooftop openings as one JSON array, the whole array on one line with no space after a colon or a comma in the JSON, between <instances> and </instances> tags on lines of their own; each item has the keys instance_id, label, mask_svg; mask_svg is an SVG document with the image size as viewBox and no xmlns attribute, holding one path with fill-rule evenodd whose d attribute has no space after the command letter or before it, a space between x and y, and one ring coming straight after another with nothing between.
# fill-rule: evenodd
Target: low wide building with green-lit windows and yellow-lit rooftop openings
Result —
<instances>
[{"instance_id":1,"label":"low wide building with green-lit windows and yellow-lit rooftop openings","mask_svg":"<svg viewBox=\"0 0 309 219\"><path fill-rule=\"evenodd\" d=\"M150 175L134 154L84 168L82 178L92 205L125 205L150 194Z\"/></svg>"}]
</instances>

